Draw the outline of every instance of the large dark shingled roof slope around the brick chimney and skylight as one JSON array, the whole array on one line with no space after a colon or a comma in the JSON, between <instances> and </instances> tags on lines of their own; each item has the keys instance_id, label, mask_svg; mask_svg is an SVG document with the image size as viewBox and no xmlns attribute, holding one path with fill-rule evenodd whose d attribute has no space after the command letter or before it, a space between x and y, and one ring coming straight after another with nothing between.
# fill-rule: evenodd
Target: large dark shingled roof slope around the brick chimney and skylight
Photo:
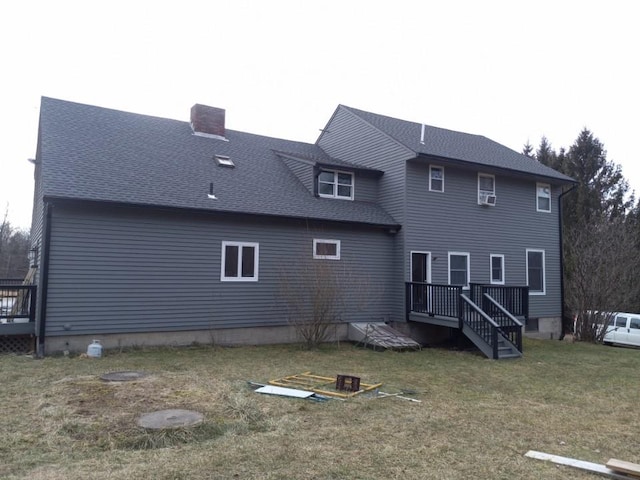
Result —
<instances>
[{"instance_id":1,"label":"large dark shingled roof slope around the brick chimney and skylight","mask_svg":"<svg viewBox=\"0 0 640 480\"><path fill-rule=\"evenodd\" d=\"M313 196L275 153L341 164L315 145L229 129L198 136L186 121L46 97L39 135L44 197L397 227L376 204Z\"/></svg>"}]
</instances>

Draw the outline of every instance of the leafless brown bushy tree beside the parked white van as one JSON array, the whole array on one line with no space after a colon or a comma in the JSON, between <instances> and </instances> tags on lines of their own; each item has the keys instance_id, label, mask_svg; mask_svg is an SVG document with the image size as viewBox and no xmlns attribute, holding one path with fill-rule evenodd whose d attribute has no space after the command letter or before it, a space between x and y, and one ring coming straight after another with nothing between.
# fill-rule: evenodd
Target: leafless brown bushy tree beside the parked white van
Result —
<instances>
[{"instance_id":1,"label":"leafless brown bushy tree beside the parked white van","mask_svg":"<svg viewBox=\"0 0 640 480\"><path fill-rule=\"evenodd\" d=\"M628 310L637 296L640 260L632 225L621 219L593 219L568 232L565 255L567 304L579 340L602 342L613 313Z\"/></svg>"}]
</instances>

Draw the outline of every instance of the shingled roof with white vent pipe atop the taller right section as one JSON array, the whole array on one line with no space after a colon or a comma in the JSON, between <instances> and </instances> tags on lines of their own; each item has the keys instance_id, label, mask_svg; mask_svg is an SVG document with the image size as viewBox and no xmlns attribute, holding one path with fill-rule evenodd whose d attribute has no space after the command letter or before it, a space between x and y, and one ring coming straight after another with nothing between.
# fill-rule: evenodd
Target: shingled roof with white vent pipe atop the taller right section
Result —
<instances>
[{"instance_id":1,"label":"shingled roof with white vent pipe atop the taller right section","mask_svg":"<svg viewBox=\"0 0 640 480\"><path fill-rule=\"evenodd\" d=\"M468 162L487 168L546 177L560 182L575 182L571 177L482 135L399 120L344 105L340 105L339 108L344 108L360 117L399 144L411 149L416 156Z\"/></svg>"}]
</instances>

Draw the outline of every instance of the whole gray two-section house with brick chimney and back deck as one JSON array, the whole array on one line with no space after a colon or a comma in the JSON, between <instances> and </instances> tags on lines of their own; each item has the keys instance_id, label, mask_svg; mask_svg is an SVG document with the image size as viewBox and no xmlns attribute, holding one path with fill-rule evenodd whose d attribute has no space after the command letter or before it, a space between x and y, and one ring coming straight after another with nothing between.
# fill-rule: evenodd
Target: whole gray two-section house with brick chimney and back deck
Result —
<instances>
[{"instance_id":1,"label":"whole gray two-section house with brick chimney and back deck","mask_svg":"<svg viewBox=\"0 0 640 480\"><path fill-rule=\"evenodd\" d=\"M314 145L224 116L42 99L40 353L295 341L283 290L317 265L343 278L335 338L368 321L479 346L560 332L570 178L481 136L345 106Z\"/></svg>"}]
</instances>

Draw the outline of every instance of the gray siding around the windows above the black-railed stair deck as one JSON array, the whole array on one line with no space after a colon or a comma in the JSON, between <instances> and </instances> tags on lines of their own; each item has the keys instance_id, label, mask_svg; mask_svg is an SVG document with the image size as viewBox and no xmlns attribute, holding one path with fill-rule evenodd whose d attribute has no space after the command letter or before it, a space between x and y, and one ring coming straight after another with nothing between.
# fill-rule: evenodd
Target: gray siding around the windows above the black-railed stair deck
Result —
<instances>
[{"instance_id":1,"label":"gray siding around the windows above the black-railed stair deck","mask_svg":"<svg viewBox=\"0 0 640 480\"><path fill-rule=\"evenodd\" d=\"M428 163L407 163L405 278L411 250L431 252L433 283L448 282L449 252L468 252L472 282L490 282L489 258L496 254L504 255L505 283L525 285L526 250L544 250L546 294L530 295L530 314L560 316L559 188L552 189L551 213L537 212L534 179L496 174L496 206L481 206L477 174L445 166L444 192L430 192Z\"/></svg>"}]
</instances>

